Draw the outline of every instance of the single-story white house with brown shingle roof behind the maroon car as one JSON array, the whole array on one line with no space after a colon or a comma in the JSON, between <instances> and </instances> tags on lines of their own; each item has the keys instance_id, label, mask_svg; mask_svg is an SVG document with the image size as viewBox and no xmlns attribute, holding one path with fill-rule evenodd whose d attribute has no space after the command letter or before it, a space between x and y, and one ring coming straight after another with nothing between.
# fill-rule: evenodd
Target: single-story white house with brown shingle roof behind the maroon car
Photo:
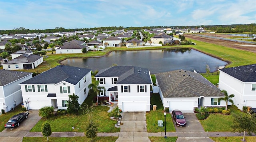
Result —
<instances>
[{"instance_id":1,"label":"single-story white house with brown shingle roof behind the maroon car","mask_svg":"<svg viewBox=\"0 0 256 142\"><path fill-rule=\"evenodd\" d=\"M226 106L226 102L218 101L218 98L224 97L221 90L196 72L174 70L155 75L162 103L170 111Z\"/></svg>"}]
</instances>

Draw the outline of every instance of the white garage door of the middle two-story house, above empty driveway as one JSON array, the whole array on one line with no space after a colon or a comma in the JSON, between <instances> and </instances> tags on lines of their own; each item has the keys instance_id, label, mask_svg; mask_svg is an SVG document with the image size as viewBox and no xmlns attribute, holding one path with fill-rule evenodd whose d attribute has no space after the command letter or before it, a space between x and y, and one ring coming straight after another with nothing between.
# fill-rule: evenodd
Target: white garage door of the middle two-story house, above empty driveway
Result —
<instances>
[{"instance_id":1,"label":"white garage door of the middle two-story house, above empty driveway","mask_svg":"<svg viewBox=\"0 0 256 142\"><path fill-rule=\"evenodd\" d=\"M146 102L122 102L123 111L146 111Z\"/></svg>"}]
</instances>

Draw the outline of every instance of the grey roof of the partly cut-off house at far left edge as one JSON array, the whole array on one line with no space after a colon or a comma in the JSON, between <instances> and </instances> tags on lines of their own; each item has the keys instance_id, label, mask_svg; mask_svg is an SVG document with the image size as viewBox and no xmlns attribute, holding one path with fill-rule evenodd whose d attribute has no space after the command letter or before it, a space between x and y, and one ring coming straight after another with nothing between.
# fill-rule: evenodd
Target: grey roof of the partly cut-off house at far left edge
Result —
<instances>
[{"instance_id":1,"label":"grey roof of the partly cut-off house at far left edge","mask_svg":"<svg viewBox=\"0 0 256 142\"><path fill-rule=\"evenodd\" d=\"M0 70L0 86L4 86L11 82L14 82L20 78L28 76L30 72L18 72L13 70Z\"/></svg>"}]
</instances>

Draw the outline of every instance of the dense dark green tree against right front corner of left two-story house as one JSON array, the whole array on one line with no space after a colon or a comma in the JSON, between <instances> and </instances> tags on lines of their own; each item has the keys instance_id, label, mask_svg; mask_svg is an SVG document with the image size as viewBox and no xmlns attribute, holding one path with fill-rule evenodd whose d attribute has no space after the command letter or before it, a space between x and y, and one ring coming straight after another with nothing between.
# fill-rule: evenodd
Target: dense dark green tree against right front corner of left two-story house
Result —
<instances>
[{"instance_id":1,"label":"dense dark green tree against right front corner of left two-story house","mask_svg":"<svg viewBox=\"0 0 256 142\"><path fill-rule=\"evenodd\" d=\"M75 95L68 95L68 114L75 114L77 115L79 112L80 104L78 103L79 96Z\"/></svg>"}]
</instances>

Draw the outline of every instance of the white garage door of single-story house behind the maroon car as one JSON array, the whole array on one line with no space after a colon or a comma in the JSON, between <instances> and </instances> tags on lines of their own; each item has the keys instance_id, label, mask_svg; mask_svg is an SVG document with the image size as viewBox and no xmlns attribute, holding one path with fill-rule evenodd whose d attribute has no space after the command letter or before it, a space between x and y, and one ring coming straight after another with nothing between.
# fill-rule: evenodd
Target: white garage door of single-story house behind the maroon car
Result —
<instances>
[{"instance_id":1,"label":"white garage door of single-story house behind the maroon car","mask_svg":"<svg viewBox=\"0 0 256 142\"><path fill-rule=\"evenodd\" d=\"M188 111L193 111L194 110L194 102L186 102L186 101L175 101L169 102L169 110L188 110Z\"/></svg>"}]
</instances>

